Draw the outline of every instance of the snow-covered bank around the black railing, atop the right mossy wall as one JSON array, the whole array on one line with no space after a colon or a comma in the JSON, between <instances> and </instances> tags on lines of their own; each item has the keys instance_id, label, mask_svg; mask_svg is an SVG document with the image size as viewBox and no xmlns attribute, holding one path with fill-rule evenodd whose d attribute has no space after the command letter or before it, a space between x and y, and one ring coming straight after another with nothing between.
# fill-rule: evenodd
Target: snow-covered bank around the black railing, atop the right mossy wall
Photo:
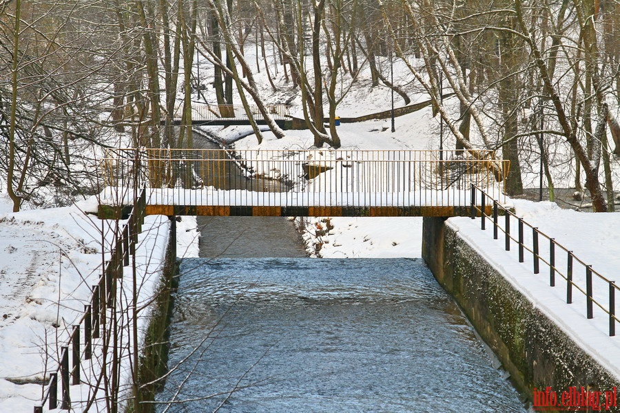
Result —
<instances>
[{"instance_id":1,"label":"snow-covered bank around the black railing, atop the right mossy wall","mask_svg":"<svg viewBox=\"0 0 620 413\"><path fill-rule=\"evenodd\" d=\"M572 250L575 257L592 264L601 275L614 279L620 264L620 244L617 228L620 213L579 213L559 209L551 202L515 201L516 213L540 231L554 237L558 244ZM538 275L533 273L533 258L526 253L519 263L516 247L504 250L504 238L493 240L490 228L480 230L479 219L451 218L447 221L468 244L473 246L517 290L529 299L579 347L599 361L620 380L620 337L609 336L609 318L596 305L594 318L586 318L586 297L574 288L572 304L566 304L566 281L556 276L555 287L550 287L548 267L541 263ZM526 231L525 242L531 245L531 234ZM549 247L541 242L541 255L548 257ZM566 273L566 253L557 250L557 268ZM575 262L573 281L585 290L585 268ZM607 307L608 284L595 277L595 300Z\"/></svg>"}]
</instances>

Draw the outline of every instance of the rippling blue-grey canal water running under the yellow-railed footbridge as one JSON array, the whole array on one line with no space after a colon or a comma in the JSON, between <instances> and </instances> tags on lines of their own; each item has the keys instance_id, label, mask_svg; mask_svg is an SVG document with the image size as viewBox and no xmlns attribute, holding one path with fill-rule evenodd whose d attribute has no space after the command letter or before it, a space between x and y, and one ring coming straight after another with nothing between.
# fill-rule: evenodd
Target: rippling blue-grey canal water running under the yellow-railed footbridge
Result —
<instances>
[{"instance_id":1,"label":"rippling blue-grey canal water running under the yellow-railed footbridge","mask_svg":"<svg viewBox=\"0 0 620 413\"><path fill-rule=\"evenodd\" d=\"M285 218L199 218L158 412L526 412L420 259L305 257Z\"/></svg>"}]
</instances>

